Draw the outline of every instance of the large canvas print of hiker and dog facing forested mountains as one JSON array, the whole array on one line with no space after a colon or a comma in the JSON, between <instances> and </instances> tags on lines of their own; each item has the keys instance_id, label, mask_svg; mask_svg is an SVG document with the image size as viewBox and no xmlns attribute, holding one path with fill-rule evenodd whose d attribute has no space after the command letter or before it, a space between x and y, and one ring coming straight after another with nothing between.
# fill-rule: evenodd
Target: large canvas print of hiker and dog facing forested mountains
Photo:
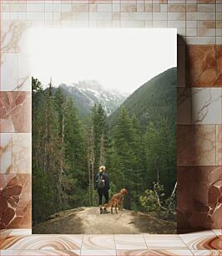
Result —
<instances>
[{"instance_id":1,"label":"large canvas print of hiker and dog facing forested mountains","mask_svg":"<svg viewBox=\"0 0 222 256\"><path fill-rule=\"evenodd\" d=\"M33 233L176 233L176 38L30 32Z\"/></svg>"}]
</instances>

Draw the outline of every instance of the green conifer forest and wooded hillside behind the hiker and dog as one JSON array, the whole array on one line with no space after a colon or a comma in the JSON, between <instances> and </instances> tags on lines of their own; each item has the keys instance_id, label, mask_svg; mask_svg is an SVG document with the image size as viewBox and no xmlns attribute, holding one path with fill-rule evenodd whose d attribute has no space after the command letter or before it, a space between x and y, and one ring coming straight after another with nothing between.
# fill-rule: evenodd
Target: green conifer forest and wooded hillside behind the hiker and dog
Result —
<instances>
[{"instance_id":1,"label":"green conifer forest and wooded hillside behind the hiker and dog","mask_svg":"<svg viewBox=\"0 0 222 256\"><path fill-rule=\"evenodd\" d=\"M175 207L176 69L141 86L108 118L101 104L93 105L84 122L63 88L43 90L34 78L32 85L33 224L55 212L97 206L94 176L101 165L111 196L127 188L125 208Z\"/></svg>"}]
</instances>

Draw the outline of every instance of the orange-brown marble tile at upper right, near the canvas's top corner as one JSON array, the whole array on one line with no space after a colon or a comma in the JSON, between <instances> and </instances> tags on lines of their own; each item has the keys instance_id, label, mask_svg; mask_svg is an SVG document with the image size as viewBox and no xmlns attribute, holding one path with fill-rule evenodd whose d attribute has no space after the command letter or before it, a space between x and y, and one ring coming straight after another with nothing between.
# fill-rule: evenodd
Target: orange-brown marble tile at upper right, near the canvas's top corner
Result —
<instances>
[{"instance_id":1,"label":"orange-brown marble tile at upper right, near the canvas's top corner","mask_svg":"<svg viewBox=\"0 0 222 256\"><path fill-rule=\"evenodd\" d=\"M188 45L186 49L186 86L220 87L221 46Z\"/></svg>"}]
</instances>

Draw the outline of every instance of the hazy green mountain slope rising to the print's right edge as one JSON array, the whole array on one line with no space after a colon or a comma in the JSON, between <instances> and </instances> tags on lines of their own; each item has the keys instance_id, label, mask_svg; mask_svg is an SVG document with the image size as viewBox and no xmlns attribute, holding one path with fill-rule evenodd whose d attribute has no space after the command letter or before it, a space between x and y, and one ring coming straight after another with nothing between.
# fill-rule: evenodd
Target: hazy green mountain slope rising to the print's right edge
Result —
<instances>
[{"instance_id":1,"label":"hazy green mountain slope rising to the print's right edge","mask_svg":"<svg viewBox=\"0 0 222 256\"><path fill-rule=\"evenodd\" d=\"M124 103L108 116L108 127L113 131L121 107L135 115L142 126L153 121L155 125L165 117L172 127L176 122L177 68L167 69L135 90Z\"/></svg>"}]
</instances>

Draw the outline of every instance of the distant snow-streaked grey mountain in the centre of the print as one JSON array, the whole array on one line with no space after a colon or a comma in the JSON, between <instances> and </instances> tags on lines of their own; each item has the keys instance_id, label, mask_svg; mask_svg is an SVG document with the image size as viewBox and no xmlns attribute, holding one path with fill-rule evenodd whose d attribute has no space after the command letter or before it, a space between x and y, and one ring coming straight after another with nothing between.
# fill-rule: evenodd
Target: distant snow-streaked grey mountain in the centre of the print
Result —
<instances>
[{"instance_id":1,"label":"distant snow-streaked grey mountain in the centre of the print","mask_svg":"<svg viewBox=\"0 0 222 256\"><path fill-rule=\"evenodd\" d=\"M101 104L107 115L111 115L126 100L128 95L114 90L105 90L95 80L83 80L73 84L59 84L63 93L73 98L80 118L90 114L94 104Z\"/></svg>"}]
</instances>

